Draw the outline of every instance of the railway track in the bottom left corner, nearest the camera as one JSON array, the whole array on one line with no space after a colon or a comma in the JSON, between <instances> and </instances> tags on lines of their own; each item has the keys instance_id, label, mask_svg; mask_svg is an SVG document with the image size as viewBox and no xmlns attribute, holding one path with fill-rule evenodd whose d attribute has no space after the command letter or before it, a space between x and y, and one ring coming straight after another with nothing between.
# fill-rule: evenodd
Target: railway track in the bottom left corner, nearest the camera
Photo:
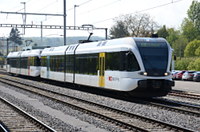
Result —
<instances>
[{"instance_id":1,"label":"railway track in the bottom left corner, nearest the camera","mask_svg":"<svg viewBox=\"0 0 200 132\"><path fill-rule=\"evenodd\" d=\"M1 132L56 132L2 97L0 97L0 120L3 122L0 123Z\"/></svg>"}]
</instances>

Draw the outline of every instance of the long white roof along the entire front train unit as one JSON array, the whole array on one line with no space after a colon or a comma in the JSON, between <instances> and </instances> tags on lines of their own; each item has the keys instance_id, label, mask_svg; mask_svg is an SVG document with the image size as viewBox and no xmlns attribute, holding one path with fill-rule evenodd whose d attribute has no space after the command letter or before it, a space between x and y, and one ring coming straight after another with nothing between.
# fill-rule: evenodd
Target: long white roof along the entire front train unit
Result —
<instances>
[{"instance_id":1,"label":"long white roof along the entire front train unit","mask_svg":"<svg viewBox=\"0 0 200 132\"><path fill-rule=\"evenodd\" d=\"M137 49L136 41L146 41L146 42L166 42L163 38L134 38L126 37L98 42L73 44L67 46L51 47L45 48L42 51L41 56L47 55L64 55L73 54L76 49L76 54L85 53L100 53L100 52L117 52L117 51L130 51L132 49ZM77 47L78 46L78 47Z\"/></svg>"}]
</instances>

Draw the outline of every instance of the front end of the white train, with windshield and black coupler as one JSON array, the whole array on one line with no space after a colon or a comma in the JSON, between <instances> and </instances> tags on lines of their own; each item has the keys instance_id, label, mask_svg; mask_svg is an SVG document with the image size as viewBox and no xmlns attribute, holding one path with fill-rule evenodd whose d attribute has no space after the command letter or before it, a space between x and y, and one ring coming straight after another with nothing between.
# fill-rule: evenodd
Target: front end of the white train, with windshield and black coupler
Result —
<instances>
[{"instance_id":1,"label":"front end of the white train, with windshield and black coupler","mask_svg":"<svg viewBox=\"0 0 200 132\"><path fill-rule=\"evenodd\" d=\"M174 86L170 74L171 47L162 38L134 40L143 63L139 73L141 80L133 92L146 91L145 96L165 96Z\"/></svg>"}]
</instances>

